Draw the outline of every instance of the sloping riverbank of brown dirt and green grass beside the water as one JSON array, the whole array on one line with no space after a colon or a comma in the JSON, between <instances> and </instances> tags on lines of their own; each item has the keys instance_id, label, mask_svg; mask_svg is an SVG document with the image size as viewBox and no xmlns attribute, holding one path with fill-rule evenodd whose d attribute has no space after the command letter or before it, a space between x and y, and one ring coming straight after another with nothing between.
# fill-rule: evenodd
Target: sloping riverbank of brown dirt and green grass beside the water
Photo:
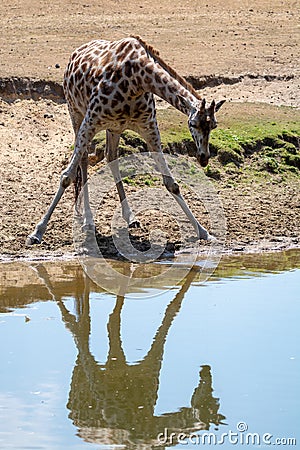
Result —
<instances>
[{"instance_id":1,"label":"sloping riverbank of brown dirt and green grass beside the water","mask_svg":"<svg viewBox=\"0 0 300 450\"><path fill-rule=\"evenodd\" d=\"M72 189L54 212L42 244L30 249L24 245L51 201L71 154L73 132L66 105L46 99L17 100L2 101L0 108L4 149L0 166L0 253L4 259L73 255ZM204 173L223 205L227 223L224 252L298 248L299 110L227 102L218 119L219 127L211 136L213 156ZM160 105L158 121L165 151L174 158L186 158L195 173L202 171L193 157L186 118ZM101 136L98 142L103 144ZM121 142L123 151L143 150L143 146L131 133L126 133ZM96 170L91 167L90 175ZM146 179L127 177L124 182L129 195L143 187L162 187L160 178L151 174ZM181 189L195 216L209 228L203 204L185 186ZM117 195L112 192L96 218L98 242L107 256L116 255L110 221L117 206ZM134 245L144 250L151 231L160 228L167 234L169 250L176 251L180 244L176 225L167 216L146 212L138 218L142 226L131 231ZM200 251L206 250L207 244L201 242Z\"/></svg>"}]
</instances>

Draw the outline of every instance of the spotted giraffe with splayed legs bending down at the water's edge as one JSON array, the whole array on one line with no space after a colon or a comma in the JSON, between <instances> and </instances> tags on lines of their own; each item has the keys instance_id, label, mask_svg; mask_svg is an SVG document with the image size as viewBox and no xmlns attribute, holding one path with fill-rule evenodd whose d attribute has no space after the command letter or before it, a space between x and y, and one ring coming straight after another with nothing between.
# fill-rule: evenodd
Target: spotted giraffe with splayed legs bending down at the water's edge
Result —
<instances>
[{"instance_id":1,"label":"spotted giraffe with splayed legs bending down at the water's edge","mask_svg":"<svg viewBox=\"0 0 300 450\"><path fill-rule=\"evenodd\" d=\"M75 133L75 146L67 168L61 173L58 190L42 220L28 236L26 244L39 244L50 217L72 182L87 181L89 162L102 156L90 154L96 133L106 130L106 160L110 164L119 194L122 216L129 227L139 226L127 202L118 165L118 143L125 129L138 132L147 142L162 174L166 189L173 195L196 230L199 239L212 237L196 220L172 177L161 149L154 95L188 116L188 126L195 141L196 157L205 167L210 157L209 136L216 128L215 113L225 100L209 106L204 98L159 56L159 52L139 36L117 41L94 40L73 52L64 75L64 93ZM94 229L88 193L84 189L86 229Z\"/></svg>"}]
</instances>

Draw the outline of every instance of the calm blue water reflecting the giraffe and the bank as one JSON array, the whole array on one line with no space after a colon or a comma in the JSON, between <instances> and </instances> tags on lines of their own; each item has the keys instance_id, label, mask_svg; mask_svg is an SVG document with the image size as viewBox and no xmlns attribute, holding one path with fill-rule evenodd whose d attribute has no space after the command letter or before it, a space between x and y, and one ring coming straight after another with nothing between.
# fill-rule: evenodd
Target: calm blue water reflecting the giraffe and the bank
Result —
<instances>
[{"instance_id":1,"label":"calm blue water reflecting the giraffe and the bank","mask_svg":"<svg viewBox=\"0 0 300 450\"><path fill-rule=\"evenodd\" d=\"M225 258L132 298L77 262L2 264L0 448L299 448L299 266Z\"/></svg>"}]
</instances>

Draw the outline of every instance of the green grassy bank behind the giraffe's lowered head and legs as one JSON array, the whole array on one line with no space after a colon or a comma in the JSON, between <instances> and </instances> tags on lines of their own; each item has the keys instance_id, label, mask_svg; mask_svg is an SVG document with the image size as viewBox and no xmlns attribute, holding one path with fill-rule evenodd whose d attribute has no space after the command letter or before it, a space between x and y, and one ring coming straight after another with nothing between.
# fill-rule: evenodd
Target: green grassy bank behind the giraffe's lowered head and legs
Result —
<instances>
[{"instance_id":1,"label":"green grassy bank behind the giraffe's lowered head and legs","mask_svg":"<svg viewBox=\"0 0 300 450\"><path fill-rule=\"evenodd\" d=\"M195 145L187 119L173 108L158 110L158 123L164 151L195 155ZM265 104L227 103L218 114L219 126L210 138L212 158L205 174L215 180L244 174L263 176L300 175L300 111ZM105 146L105 134L95 138ZM120 140L120 153L146 151L146 144L134 132L126 131ZM195 162L195 172L198 163ZM260 175L261 174L261 175ZM140 183L128 176L128 184ZM147 178L152 186L156 180Z\"/></svg>"}]
</instances>

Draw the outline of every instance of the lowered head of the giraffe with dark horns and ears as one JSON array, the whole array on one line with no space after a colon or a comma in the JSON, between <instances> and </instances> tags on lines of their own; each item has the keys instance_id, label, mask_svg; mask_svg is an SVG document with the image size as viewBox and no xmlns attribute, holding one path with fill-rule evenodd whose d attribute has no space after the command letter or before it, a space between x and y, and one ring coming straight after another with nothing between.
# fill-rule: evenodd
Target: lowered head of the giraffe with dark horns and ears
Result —
<instances>
[{"instance_id":1,"label":"lowered head of the giraffe with dark horns and ears","mask_svg":"<svg viewBox=\"0 0 300 450\"><path fill-rule=\"evenodd\" d=\"M211 130L217 127L215 113L219 111L225 100L221 100L217 104L213 100L206 107L206 101L203 99L199 102L199 106L193 108L189 115L189 129L197 146L197 160L202 167L206 167L210 157L209 153L209 136Z\"/></svg>"}]
</instances>

